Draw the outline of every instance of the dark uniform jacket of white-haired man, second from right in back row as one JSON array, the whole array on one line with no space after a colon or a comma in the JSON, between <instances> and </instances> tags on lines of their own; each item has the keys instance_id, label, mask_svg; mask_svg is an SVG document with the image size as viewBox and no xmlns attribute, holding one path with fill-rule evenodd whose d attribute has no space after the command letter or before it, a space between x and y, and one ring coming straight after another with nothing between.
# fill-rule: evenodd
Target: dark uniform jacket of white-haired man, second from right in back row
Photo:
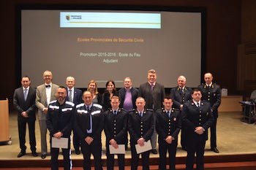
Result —
<instances>
[{"instance_id":1,"label":"dark uniform jacket of white-haired man, second from right in back row","mask_svg":"<svg viewBox=\"0 0 256 170\"><path fill-rule=\"evenodd\" d=\"M181 89L177 86L170 90L170 97L173 100L173 107L180 109L181 104L184 104L186 101L192 100L192 89L189 87L184 88L184 93L181 92Z\"/></svg>"}]
</instances>

